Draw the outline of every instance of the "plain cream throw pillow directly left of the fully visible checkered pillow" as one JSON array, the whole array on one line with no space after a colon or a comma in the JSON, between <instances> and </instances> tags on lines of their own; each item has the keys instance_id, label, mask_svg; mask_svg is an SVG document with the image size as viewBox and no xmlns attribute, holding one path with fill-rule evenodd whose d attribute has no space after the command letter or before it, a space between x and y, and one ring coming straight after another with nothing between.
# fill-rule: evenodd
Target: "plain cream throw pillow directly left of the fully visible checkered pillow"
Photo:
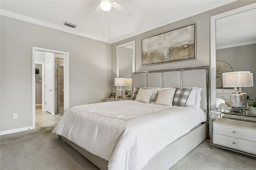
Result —
<instances>
[{"instance_id":1,"label":"plain cream throw pillow directly left of the fully visible checkered pillow","mask_svg":"<svg viewBox=\"0 0 256 170\"><path fill-rule=\"evenodd\" d=\"M172 88L159 91L156 99L156 105L172 106L175 90L175 88Z\"/></svg>"}]
</instances>

